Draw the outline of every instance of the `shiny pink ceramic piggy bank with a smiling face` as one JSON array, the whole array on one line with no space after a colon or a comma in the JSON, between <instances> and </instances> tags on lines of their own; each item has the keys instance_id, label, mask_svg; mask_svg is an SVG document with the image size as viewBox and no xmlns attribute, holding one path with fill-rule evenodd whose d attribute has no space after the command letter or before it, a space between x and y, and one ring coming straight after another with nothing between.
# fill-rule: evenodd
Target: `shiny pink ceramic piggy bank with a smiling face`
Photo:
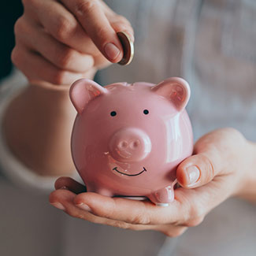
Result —
<instances>
[{"instance_id":1,"label":"shiny pink ceramic piggy bank with a smiling face","mask_svg":"<svg viewBox=\"0 0 256 256\"><path fill-rule=\"evenodd\" d=\"M157 85L73 83L72 159L87 191L168 206L176 167L193 149L189 97L188 83L177 77Z\"/></svg>"}]
</instances>

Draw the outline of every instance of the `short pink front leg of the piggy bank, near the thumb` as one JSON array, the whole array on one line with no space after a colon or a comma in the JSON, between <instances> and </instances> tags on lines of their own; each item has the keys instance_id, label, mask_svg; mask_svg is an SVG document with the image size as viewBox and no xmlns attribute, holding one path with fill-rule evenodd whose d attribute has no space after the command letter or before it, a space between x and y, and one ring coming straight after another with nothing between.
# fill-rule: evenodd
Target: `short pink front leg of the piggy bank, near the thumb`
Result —
<instances>
[{"instance_id":1,"label":"short pink front leg of the piggy bank, near the thumb","mask_svg":"<svg viewBox=\"0 0 256 256\"><path fill-rule=\"evenodd\" d=\"M148 195L148 198L157 206L169 206L169 203L174 200L173 185L154 191Z\"/></svg>"}]
</instances>

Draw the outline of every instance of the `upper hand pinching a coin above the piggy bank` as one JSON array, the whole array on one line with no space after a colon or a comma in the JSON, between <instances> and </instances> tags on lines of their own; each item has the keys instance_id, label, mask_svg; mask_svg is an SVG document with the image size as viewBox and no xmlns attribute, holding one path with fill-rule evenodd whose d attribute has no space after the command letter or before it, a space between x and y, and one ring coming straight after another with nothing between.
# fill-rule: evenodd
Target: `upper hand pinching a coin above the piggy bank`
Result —
<instances>
[{"instance_id":1,"label":"upper hand pinching a coin above the piggy bank","mask_svg":"<svg viewBox=\"0 0 256 256\"><path fill-rule=\"evenodd\" d=\"M28 80L71 84L93 78L97 69L121 61L117 32L131 24L102 0L23 0L15 24L13 63Z\"/></svg>"}]
</instances>

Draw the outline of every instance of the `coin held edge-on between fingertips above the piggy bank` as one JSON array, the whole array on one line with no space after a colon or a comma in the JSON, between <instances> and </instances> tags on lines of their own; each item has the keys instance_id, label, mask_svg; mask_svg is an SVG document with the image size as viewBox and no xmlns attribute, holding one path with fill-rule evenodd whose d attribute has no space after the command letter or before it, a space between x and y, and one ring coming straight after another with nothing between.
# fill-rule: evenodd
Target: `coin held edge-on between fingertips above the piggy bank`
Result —
<instances>
[{"instance_id":1,"label":"coin held edge-on between fingertips above the piggy bank","mask_svg":"<svg viewBox=\"0 0 256 256\"><path fill-rule=\"evenodd\" d=\"M132 62L134 47L130 36L125 32L117 32L117 36L123 46L124 55L121 61L118 62L120 65L128 65Z\"/></svg>"}]
</instances>

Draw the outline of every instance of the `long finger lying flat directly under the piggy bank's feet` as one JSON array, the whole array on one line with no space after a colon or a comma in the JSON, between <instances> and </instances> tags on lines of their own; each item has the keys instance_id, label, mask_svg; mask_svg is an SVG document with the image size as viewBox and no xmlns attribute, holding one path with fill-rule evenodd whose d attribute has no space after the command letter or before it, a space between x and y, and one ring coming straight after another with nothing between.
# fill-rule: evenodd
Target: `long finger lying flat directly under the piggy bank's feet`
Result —
<instances>
[{"instance_id":1,"label":"long finger lying flat directly under the piggy bank's feet","mask_svg":"<svg viewBox=\"0 0 256 256\"><path fill-rule=\"evenodd\" d=\"M99 217L129 224L166 224L180 219L180 203L169 207L155 206L149 201L110 198L96 193L83 193L74 198L77 207L90 210Z\"/></svg>"}]
</instances>

